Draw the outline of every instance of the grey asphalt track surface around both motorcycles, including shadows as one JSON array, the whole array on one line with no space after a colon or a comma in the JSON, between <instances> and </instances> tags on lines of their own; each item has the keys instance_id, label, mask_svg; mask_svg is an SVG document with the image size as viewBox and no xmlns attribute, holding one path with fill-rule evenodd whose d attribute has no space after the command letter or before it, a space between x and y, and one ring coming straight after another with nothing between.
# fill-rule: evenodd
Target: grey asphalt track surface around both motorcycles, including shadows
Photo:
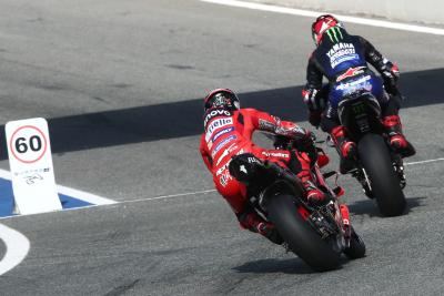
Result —
<instances>
[{"instance_id":1,"label":"grey asphalt track surface around both motorcycles, including shadows","mask_svg":"<svg viewBox=\"0 0 444 296\"><path fill-rule=\"evenodd\" d=\"M1 295L444 293L444 162L406 166L408 210L393 218L342 177L367 256L324 274L240 231L214 192L193 194L212 190L198 152L208 90L309 126L311 19L191 0L0 3L1 124L47 118L57 182L120 202L3 220L31 246ZM347 29L401 65L408 162L444 157L444 39Z\"/></svg>"}]
</instances>

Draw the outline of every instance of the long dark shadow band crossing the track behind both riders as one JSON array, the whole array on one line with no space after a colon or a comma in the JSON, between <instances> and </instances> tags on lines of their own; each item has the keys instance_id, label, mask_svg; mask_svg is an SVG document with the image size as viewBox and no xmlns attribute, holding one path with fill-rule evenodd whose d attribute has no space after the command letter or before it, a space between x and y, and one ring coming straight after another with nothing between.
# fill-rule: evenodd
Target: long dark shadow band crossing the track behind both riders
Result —
<instances>
[{"instance_id":1,"label":"long dark shadow band crossing the track behind both riders","mask_svg":"<svg viewBox=\"0 0 444 296\"><path fill-rule=\"evenodd\" d=\"M401 89L407 98L404 108L444 102L441 96L442 81L444 69L404 73L401 79ZM301 89L302 86L282 88L240 93L239 96L243 106L256 108L299 122L306 120ZM191 136L200 134L203 129L202 99L48 121L53 153ZM0 160L7 157L4 129L0 129Z\"/></svg>"}]
</instances>

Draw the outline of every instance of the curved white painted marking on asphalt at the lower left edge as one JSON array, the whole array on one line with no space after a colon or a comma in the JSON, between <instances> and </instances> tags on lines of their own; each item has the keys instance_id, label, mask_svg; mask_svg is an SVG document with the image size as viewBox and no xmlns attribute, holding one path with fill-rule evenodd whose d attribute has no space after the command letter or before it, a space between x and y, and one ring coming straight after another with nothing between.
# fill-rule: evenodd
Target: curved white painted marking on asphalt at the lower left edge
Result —
<instances>
[{"instance_id":1,"label":"curved white painted marking on asphalt at the lower left edge","mask_svg":"<svg viewBox=\"0 0 444 296\"><path fill-rule=\"evenodd\" d=\"M0 239L7 246L4 257L0 262L0 275L3 275L27 257L31 244L24 235L1 224Z\"/></svg>"}]
</instances>

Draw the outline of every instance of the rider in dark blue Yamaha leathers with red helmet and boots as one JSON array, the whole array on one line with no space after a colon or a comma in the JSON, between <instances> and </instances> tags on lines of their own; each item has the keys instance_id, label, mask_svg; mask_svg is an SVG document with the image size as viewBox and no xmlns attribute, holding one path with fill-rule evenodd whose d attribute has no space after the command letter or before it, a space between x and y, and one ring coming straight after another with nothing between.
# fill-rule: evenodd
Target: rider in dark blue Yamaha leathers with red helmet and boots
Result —
<instances>
[{"instance_id":1,"label":"rider in dark blue Yamaha leathers with red helmet and boots","mask_svg":"<svg viewBox=\"0 0 444 296\"><path fill-rule=\"evenodd\" d=\"M310 111L310 122L315 126L321 125L332 136L341 155L341 173L352 169L343 164L350 164L349 161L354 159L357 151L356 144L347 139L346 129L339 122L337 105L343 96L354 91L371 91L379 101L391 146L403 157L415 154L414 147L402 133L397 65L383 58L364 38L349 34L333 16L319 17L312 24L312 34L316 49L309 59L307 82L302 96ZM383 81L367 63L381 73ZM322 85L323 76L329 80L326 86Z\"/></svg>"}]
</instances>

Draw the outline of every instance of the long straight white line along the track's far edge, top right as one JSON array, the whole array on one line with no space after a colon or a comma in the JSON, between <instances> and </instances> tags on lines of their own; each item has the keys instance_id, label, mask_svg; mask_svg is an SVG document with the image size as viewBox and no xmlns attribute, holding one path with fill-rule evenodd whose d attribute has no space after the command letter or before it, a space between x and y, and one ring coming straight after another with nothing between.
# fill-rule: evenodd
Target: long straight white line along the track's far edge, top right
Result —
<instances>
[{"instance_id":1,"label":"long straight white line along the track's far edge, top right","mask_svg":"<svg viewBox=\"0 0 444 296\"><path fill-rule=\"evenodd\" d=\"M215 3L215 4L222 4L222 6L239 7L239 8L254 9L254 10L261 10L261 11L270 11L270 12L284 13L284 14L309 17L309 18L317 18L320 14L329 13L329 12L323 12L323 11L293 9L293 8L285 8L285 7L271 6L271 4L251 3L251 2L236 1L236 0L201 0L201 1L209 2L209 3ZM401 22L391 22L391 21L383 21L383 20L373 20L373 19L342 16L342 14L336 14L336 13L331 13L331 14L334 14L335 17L337 17L337 19L340 19L343 22L359 23L359 24L380 27L380 28L389 28L389 29L410 31L410 32L444 35L444 29L438 29L438 28L407 24L407 23L401 23Z\"/></svg>"}]
</instances>

